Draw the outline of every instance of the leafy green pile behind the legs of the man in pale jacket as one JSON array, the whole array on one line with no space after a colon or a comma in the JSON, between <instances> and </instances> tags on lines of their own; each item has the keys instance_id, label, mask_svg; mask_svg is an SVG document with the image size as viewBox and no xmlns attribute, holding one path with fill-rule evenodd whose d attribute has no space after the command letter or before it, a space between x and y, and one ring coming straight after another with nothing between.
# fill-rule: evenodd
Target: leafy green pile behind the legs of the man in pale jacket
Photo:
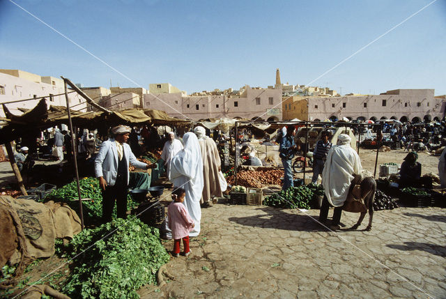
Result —
<instances>
[{"instance_id":1,"label":"leafy green pile behind the legs of the man in pale jacket","mask_svg":"<svg viewBox=\"0 0 446 299\"><path fill-rule=\"evenodd\" d=\"M102 193L98 179L82 178L82 180L79 180L79 185L81 188L81 197L83 199L93 199L91 201L82 201L84 216L86 215L90 219L102 217ZM73 201L73 199L78 199L76 181L72 181L54 190L45 197L45 201L66 202L70 208L77 212L79 210L79 201ZM127 208L134 208L138 204L136 201L133 201L132 196L129 194L127 197ZM113 217L116 218L116 205L113 209Z\"/></svg>"}]
</instances>

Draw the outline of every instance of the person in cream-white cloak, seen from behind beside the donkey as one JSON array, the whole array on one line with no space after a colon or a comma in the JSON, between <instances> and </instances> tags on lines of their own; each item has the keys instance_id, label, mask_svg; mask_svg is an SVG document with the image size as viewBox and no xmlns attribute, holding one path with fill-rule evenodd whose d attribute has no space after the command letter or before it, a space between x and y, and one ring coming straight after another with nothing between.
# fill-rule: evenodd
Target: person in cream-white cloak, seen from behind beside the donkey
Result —
<instances>
[{"instance_id":1,"label":"person in cream-white cloak, seen from behind beside the donkey","mask_svg":"<svg viewBox=\"0 0 446 299\"><path fill-rule=\"evenodd\" d=\"M337 145L332 146L322 172L322 185L325 194L319 213L319 222L325 223L328 208L334 206L330 229L339 229L342 206L350 190L353 174L361 174L362 166L359 155L350 146L351 137L341 134L337 137Z\"/></svg>"}]
</instances>

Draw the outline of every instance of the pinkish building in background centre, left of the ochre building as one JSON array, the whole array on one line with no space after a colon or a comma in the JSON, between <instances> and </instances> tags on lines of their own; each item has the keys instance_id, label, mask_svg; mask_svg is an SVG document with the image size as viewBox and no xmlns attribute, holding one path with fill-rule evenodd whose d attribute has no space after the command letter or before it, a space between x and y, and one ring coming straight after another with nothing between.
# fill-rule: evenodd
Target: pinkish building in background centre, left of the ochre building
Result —
<instances>
[{"instance_id":1,"label":"pinkish building in background centre, left of the ochre building","mask_svg":"<svg viewBox=\"0 0 446 299\"><path fill-rule=\"evenodd\" d=\"M282 90L252 89L245 86L240 95L184 96L181 93L148 93L144 95L145 109L159 109L170 116L191 118L247 118L282 120ZM277 107L276 107L277 106Z\"/></svg>"}]
</instances>

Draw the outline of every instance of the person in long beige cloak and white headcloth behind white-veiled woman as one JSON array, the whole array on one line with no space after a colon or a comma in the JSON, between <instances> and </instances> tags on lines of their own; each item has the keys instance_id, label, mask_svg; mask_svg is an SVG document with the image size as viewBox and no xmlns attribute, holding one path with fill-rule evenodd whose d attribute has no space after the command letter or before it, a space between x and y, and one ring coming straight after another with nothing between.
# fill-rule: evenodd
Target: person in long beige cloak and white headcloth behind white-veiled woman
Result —
<instances>
[{"instance_id":1,"label":"person in long beige cloak and white headcloth behind white-veiled woman","mask_svg":"<svg viewBox=\"0 0 446 299\"><path fill-rule=\"evenodd\" d=\"M218 172L221 170L222 162L218 154L217 144L212 138L206 136L206 129L198 126L194 129L197 135L201 158L203 160L203 194L200 204L203 206L212 206L213 197L222 197L222 187L218 178Z\"/></svg>"}]
</instances>

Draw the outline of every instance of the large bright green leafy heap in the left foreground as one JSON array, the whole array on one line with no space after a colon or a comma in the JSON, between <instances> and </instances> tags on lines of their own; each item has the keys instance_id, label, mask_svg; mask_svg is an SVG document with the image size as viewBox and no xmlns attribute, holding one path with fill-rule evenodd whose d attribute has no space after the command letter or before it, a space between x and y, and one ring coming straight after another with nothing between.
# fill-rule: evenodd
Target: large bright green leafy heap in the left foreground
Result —
<instances>
[{"instance_id":1,"label":"large bright green leafy heap in the left foreground","mask_svg":"<svg viewBox=\"0 0 446 299\"><path fill-rule=\"evenodd\" d=\"M107 236L110 231L114 233ZM157 270L169 261L158 229L137 218L84 229L62 246L68 258L89 248L77 256L63 284L61 291L71 298L139 298L136 291L154 284Z\"/></svg>"}]
</instances>

